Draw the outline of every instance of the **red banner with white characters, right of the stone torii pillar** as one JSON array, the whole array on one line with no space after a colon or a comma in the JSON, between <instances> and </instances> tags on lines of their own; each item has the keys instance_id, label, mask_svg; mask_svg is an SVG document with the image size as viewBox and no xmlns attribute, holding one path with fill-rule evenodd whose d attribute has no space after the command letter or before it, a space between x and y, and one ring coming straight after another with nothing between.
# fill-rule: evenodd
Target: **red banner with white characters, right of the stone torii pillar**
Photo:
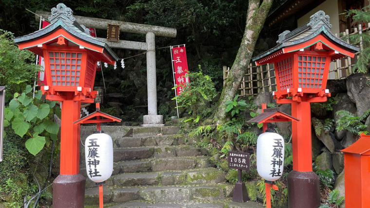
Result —
<instances>
[{"instance_id":1,"label":"red banner with white characters, right of the stone torii pillar","mask_svg":"<svg viewBox=\"0 0 370 208\"><path fill-rule=\"evenodd\" d=\"M172 62L173 62L173 70L175 75L175 85L177 95L179 95L182 91L184 91L184 87L186 83L189 83L189 77L185 77L186 74L189 73L187 68L187 59L186 59L186 50L184 46L177 46L171 48L172 52Z\"/></svg>"}]
</instances>

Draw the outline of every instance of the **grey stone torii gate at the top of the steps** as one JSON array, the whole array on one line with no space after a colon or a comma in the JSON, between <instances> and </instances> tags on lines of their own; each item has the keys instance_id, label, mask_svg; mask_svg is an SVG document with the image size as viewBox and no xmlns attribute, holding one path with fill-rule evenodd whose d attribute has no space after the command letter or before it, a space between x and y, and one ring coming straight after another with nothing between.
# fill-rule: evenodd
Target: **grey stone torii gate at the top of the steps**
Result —
<instances>
[{"instance_id":1,"label":"grey stone torii gate at the top of the steps","mask_svg":"<svg viewBox=\"0 0 370 208\"><path fill-rule=\"evenodd\" d=\"M50 17L50 12L37 11L36 20ZM162 126L163 115L157 112L157 76L155 66L155 36L176 37L176 28L145 25L109 19L74 16L76 21L87 28L108 29L108 24L120 25L121 32L146 34L146 42L120 40L109 42L106 38L96 39L106 42L111 48L147 51L147 87L148 87L148 115L144 115L143 126Z\"/></svg>"}]
</instances>

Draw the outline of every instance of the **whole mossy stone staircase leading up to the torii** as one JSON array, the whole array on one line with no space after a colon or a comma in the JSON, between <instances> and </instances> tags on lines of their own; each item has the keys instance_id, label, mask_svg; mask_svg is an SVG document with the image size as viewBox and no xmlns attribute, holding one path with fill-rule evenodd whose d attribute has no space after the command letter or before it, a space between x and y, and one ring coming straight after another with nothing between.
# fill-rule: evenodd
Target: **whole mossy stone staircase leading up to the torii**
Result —
<instances>
[{"instance_id":1,"label":"whole mossy stone staircase leading up to the torii","mask_svg":"<svg viewBox=\"0 0 370 208\"><path fill-rule=\"evenodd\" d=\"M82 126L81 140L96 126ZM110 208L262 208L255 202L231 201L234 185L211 167L203 149L187 144L179 127L102 126L113 140L114 165L103 185ZM85 208L99 205L98 187L86 175L81 145L80 173L86 179Z\"/></svg>"}]
</instances>

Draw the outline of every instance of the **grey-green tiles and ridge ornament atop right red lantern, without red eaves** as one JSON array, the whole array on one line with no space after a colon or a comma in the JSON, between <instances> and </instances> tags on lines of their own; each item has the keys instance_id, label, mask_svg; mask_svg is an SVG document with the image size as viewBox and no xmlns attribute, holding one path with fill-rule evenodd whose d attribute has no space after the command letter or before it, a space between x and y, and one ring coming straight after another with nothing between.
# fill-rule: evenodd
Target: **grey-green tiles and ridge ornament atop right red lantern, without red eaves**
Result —
<instances>
[{"instance_id":1,"label":"grey-green tiles and ridge ornament atop right red lantern, without red eaves","mask_svg":"<svg viewBox=\"0 0 370 208\"><path fill-rule=\"evenodd\" d=\"M330 24L329 19L330 17L328 15L325 15L324 11L320 10L316 12L310 17L310 21L308 23L296 28L292 32L287 30L281 33L279 35L279 39L277 40L277 46L266 52L263 52L256 57L253 57L252 61L262 59L285 47L304 43L310 39L313 39L319 34L326 36L329 40L331 40L334 44L340 46L341 48L344 48L350 52L358 52L360 50L358 47L352 46L351 44L342 41L330 32L332 25Z\"/></svg>"}]
</instances>

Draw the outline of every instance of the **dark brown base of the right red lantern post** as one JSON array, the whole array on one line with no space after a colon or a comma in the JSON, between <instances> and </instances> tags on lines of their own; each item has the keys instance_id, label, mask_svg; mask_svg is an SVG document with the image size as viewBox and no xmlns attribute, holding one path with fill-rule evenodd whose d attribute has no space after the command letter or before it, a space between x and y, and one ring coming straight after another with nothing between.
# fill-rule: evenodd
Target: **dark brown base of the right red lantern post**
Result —
<instances>
[{"instance_id":1,"label":"dark brown base of the right red lantern post","mask_svg":"<svg viewBox=\"0 0 370 208\"><path fill-rule=\"evenodd\" d=\"M292 171L288 174L288 207L318 208L320 179L314 172Z\"/></svg>"}]
</instances>

